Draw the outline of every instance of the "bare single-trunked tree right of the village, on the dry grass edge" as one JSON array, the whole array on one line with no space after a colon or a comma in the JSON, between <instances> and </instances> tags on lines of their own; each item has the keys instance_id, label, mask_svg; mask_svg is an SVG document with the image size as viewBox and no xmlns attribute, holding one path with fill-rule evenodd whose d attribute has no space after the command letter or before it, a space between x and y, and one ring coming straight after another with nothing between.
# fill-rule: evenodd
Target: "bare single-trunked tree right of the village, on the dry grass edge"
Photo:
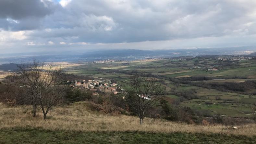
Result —
<instances>
[{"instance_id":1,"label":"bare single-trunked tree right of the village, on the dry grass edge","mask_svg":"<svg viewBox=\"0 0 256 144\"><path fill-rule=\"evenodd\" d=\"M147 110L162 98L163 89L156 78L143 77L143 72L132 75L125 89L126 101L139 115L142 125Z\"/></svg>"}]
</instances>

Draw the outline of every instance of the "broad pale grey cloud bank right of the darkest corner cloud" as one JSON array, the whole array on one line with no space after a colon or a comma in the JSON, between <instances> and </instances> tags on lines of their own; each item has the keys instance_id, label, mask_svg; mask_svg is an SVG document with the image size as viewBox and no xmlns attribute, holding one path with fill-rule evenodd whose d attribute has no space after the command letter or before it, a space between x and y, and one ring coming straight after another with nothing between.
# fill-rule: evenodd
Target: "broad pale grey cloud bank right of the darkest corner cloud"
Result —
<instances>
[{"instance_id":1,"label":"broad pale grey cloud bank right of the darkest corner cloud","mask_svg":"<svg viewBox=\"0 0 256 144\"><path fill-rule=\"evenodd\" d=\"M248 16L255 2L247 2L72 0L45 19L44 26L55 28L45 37L76 35L78 41L116 43L223 36L246 31L243 24L255 21Z\"/></svg>"}]
</instances>

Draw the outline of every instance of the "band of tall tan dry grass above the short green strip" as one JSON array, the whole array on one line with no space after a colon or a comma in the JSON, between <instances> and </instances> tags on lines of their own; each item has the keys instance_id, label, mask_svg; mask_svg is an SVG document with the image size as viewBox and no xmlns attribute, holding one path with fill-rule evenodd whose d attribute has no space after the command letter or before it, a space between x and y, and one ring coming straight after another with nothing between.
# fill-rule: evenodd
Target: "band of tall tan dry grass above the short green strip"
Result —
<instances>
[{"instance_id":1,"label":"band of tall tan dry grass above the short green strip","mask_svg":"<svg viewBox=\"0 0 256 144\"><path fill-rule=\"evenodd\" d=\"M134 116L111 116L91 112L86 109L86 102L56 108L51 112L52 118L43 120L43 114L31 116L30 106L7 107L0 103L0 129L10 127L39 128L45 130L73 131L145 131L145 132L191 132L206 134L222 133L234 135L256 135L256 124L239 126L237 130L226 126L201 126L169 122L161 119L145 118L140 126L139 119Z\"/></svg>"}]
</instances>

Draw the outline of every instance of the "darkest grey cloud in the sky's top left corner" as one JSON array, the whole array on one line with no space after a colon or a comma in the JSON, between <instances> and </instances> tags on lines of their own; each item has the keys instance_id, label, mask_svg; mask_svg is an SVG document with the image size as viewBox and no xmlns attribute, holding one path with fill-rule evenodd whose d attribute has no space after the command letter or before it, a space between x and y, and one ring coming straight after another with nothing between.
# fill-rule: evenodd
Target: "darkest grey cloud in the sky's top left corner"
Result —
<instances>
[{"instance_id":1,"label":"darkest grey cloud in the sky's top left corner","mask_svg":"<svg viewBox=\"0 0 256 144\"><path fill-rule=\"evenodd\" d=\"M1 0L0 29L18 31L41 28L42 19L60 7L48 0Z\"/></svg>"}]
</instances>

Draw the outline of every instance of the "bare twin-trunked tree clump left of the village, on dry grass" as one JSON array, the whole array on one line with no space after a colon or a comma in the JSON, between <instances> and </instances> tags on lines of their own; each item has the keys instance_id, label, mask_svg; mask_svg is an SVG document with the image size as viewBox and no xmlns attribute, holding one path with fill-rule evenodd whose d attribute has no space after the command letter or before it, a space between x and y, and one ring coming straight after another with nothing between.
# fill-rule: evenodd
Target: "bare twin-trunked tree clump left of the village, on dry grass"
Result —
<instances>
[{"instance_id":1,"label":"bare twin-trunked tree clump left of the village, on dry grass","mask_svg":"<svg viewBox=\"0 0 256 144\"><path fill-rule=\"evenodd\" d=\"M33 116L36 116L36 107L40 105L43 111L43 119L53 105L56 105L65 95L67 85L63 82L61 68L53 68L52 65L43 68L42 64L33 60L31 65L18 66L21 71L21 78L27 90L28 98L33 105ZM45 109L46 108L46 109Z\"/></svg>"}]
</instances>

